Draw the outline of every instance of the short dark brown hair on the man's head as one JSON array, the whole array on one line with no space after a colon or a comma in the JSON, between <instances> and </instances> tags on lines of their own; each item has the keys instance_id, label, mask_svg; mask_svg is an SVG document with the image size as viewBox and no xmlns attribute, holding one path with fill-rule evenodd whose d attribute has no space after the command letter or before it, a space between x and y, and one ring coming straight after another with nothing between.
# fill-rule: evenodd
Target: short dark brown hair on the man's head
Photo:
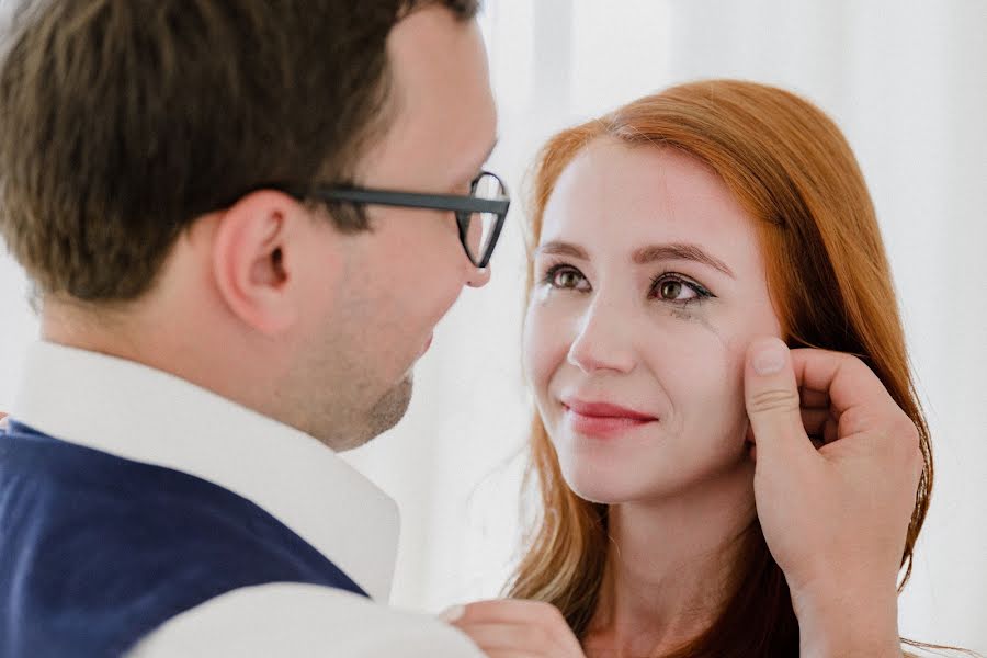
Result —
<instances>
[{"instance_id":1,"label":"short dark brown hair on the man's head","mask_svg":"<svg viewBox=\"0 0 987 658\"><path fill-rule=\"evenodd\" d=\"M133 299L195 217L343 180L383 129L386 38L477 0L43 0L0 65L0 235L42 294ZM342 229L360 213L332 213Z\"/></svg>"}]
</instances>

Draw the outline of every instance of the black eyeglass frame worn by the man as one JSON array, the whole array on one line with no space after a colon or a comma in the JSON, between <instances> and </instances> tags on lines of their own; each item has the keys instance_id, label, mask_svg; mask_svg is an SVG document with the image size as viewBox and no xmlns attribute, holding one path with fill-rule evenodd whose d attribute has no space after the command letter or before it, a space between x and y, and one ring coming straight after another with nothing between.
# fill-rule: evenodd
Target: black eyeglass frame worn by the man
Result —
<instances>
[{"instance_id":1,"label":"black eyeglass frame worn by the man","mask_svg":"<svg viewBox=\"0 0 987 658\"><path fill-rule=\"evenodd\" d=\"M469 182L469 191L475 192L480 179L486 175L494 177L503 194L500 198L479 198L477 196L467 196L463 194L424 194L421 192L404 192L399 190L377 190L370 188L352 188L341 185L269 185L269 189L279 190L285 194L290 194L295 198L303 201L306 198L315 198L324 202L342 202L359 205L383 205L407 208L422 208L429 211L451 211L455 214L456 225L460 228L460 242L475 266L479 269L486 268L490 263L490 257L494 256L494 248L500 239L500 231L503 229L503 223L507 218L508 208L511 205L511 197L508 193L507 185L499 175L490 171L480 171L475 179ZM466 246L467 231L469 229L470 216L474 213L488 213L497 216L497 220L491 229L490 242L484 253L479 258L474 258Z\"/></svg>"}]
</instances>

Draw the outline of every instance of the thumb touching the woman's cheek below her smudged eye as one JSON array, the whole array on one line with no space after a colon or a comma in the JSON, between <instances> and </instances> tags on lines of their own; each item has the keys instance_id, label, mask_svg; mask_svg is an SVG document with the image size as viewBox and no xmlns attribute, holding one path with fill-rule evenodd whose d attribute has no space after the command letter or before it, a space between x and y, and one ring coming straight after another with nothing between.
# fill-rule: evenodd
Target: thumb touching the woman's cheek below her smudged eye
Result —
<instances>
[{"instance_id":1,"label":"thumb touching the woman's cheek below her smudged eye","mask_svg":"<svg viewBox=\"0 0 987 658\"><path fill-rule=\"evenodd\" d=\"M758 338L748 345L744 398L759 462L771 455L805 458L816 454L802 424L792 358L778 338Z\"/></svg>"}]
</instances>

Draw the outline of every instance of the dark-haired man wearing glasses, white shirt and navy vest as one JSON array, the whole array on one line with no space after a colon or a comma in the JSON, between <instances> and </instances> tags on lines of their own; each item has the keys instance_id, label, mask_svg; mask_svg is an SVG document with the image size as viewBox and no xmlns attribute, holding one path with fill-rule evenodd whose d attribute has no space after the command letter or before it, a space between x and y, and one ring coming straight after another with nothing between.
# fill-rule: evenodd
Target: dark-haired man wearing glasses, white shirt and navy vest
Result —
<instances>
[{"instance_id":1,"label":"dark-haired man wearing glasses, white shirt and navy vest","mask_svg":"<svg viewBox=\"0 0 987 658\"><path fill-rule=\"evenodd\" d=\"M510 202L476 10L23 3L0 231L43 341L0 433L0 656L479 655L372 602L397 512L334 454L401 418L490 276ZM472 632L572 649L510 610Z\"/></svg>"}]
</instances>

